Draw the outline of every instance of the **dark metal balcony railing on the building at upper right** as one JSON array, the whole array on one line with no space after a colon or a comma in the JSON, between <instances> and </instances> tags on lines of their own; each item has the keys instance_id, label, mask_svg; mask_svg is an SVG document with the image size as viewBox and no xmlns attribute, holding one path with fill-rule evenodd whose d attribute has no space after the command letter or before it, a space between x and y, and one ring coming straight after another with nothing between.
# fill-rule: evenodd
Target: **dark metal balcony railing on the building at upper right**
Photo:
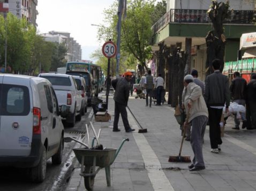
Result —
<instances>
[{"instance_id":1,"label":"dark metal balcony railing on the building at upper right","mask_svg":"<svg viewBox=\"0 0 256 191\"><path fill-rule=\"evenodd\" d=\"M206 12L207 10L171 9L153 25L153 33L155 34L169 22L209 23L210 19ZM232 11L224 23L252 24L255 22L255 15L256 11Z\"/></svg>"}]
</instances>

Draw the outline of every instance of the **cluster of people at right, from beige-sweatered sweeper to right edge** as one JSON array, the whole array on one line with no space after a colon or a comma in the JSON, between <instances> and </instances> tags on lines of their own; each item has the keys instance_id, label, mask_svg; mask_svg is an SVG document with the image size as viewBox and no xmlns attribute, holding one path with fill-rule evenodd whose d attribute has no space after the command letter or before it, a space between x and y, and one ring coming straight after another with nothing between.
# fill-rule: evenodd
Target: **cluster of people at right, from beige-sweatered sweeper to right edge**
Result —
<instances>
[{"instance_id":1,"label":"cluster of people at right, from beige-sweatered sweeper to right edge","mask_svg":"<svg viewBox=\"0 0 256 191\"><path fill-rule=\"evenodd\" d=\"M212 62L214 70L205 79L205 84L197 79L197 71L184 77L183 105L186 111L186 121L183 125L187 140L190 140L194 158L189 166L190 171L205 169L202 156L202 144L207 123L209 124L210 152L221 152L220 122L223 113L229 114L230 98L239 106L246 105L246 118L242 116L242 128L256 128L256 74L252 74L251 81L247 84L238 72L229 86L227 76L221 74L221 61ZM230 93L232 97L230 96ZM191 127L192 125L192 127ZM235 113L235 128L239 130L239 120ZM190 133L191 131L191 133Z\"/></svg>"}]
</instances>

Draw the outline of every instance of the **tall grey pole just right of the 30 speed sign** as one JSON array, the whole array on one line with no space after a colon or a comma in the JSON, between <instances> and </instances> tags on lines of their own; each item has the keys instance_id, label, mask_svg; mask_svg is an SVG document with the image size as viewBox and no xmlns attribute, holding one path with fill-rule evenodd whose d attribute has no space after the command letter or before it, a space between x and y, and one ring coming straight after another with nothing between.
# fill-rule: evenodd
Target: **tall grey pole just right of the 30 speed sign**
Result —
<instances>
[{"instance_id":1,"label":"tall grey pole just right of the 30 speed sign","mask_svg":"<svg viewBox=\"0 0 256 191\"><path fill-rule=\"evenodd\" d=\"M119 0L118 6L118 22L117 22L117 54L116 54L116 76L119 76L119 63L120 63L120 43L121 43L121 25L122 25L122 9L124 0Z\"/></svg>"}]
</instances>

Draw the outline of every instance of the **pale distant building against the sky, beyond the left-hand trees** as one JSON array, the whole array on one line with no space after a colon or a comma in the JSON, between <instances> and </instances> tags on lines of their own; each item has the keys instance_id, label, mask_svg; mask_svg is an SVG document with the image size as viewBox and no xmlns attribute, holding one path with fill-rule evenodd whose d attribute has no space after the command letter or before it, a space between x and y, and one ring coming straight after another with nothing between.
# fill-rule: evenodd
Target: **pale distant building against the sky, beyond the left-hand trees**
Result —
<instances>
[{"instance_id":1,"label":"pale distant building against the sky, beyond the left-hand trees","mask_svg":"<svg viewBox=\"0 0 256 191\"><path fill-rule=\"evenodd\" d=\"M60 31L49 31L49 33L41 34L48 42L64 43L67 47L67 55L65 59L70 61L81 60L81 45L70 36L70 33Z\"/></svg>"}]
</instances>

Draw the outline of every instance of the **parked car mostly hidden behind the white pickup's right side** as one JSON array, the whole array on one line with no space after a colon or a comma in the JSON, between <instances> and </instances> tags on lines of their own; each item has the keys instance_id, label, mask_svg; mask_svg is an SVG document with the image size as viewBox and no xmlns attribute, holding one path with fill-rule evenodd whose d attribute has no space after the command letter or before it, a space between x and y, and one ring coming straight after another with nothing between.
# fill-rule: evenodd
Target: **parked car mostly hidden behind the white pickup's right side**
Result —
<instances>
[{"instance_id":1,"label":"parked car mostly hidden behind the white pickup's right side","mask_svg":"<svg viewBox=\"0 0 256 191\"><path fill-rule=\"evenodd\" d=\"M80 86L80 93L82 95L82 115L85 115L87 112L87 95L86 95L86 83L85 83L85 78L82 76L73 76L77 86Z\"/></svg>"}]
</instances>

